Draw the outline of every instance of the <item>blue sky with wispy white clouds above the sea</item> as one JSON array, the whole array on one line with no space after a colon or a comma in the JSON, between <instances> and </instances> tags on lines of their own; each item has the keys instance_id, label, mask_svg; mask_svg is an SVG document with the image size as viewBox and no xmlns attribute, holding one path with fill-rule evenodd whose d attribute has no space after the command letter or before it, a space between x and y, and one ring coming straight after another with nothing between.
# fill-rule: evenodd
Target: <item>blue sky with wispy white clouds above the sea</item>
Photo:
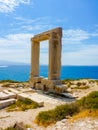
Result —
<instances>
[{"instance_id":1,"label":"blue sky with wispy white clouds above the sea","mask_svg":"<svg viewBox=\"0 0 98 130\"><path fill-rule=\"evenodd\" d=\"M63 65L98 65L98 0L0 0L0 60L30 63L31 37L56 27ZM48 41L40 57L48 64Z\"/></svg>"}]
</instances>

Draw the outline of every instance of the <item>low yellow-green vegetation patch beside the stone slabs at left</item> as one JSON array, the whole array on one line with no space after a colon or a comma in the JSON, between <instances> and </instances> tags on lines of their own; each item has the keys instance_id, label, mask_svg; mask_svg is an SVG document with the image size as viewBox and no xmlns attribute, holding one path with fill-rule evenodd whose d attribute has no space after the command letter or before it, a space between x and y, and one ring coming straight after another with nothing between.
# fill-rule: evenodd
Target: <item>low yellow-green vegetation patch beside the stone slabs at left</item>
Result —
<instances>
[{"instance_id":1,"label":"low yellow-green vegetation patch beside the stone slabs at left","mask_svg":"<svg viewBox=\"0 0 98 130\"><path fill-rule=\"evenodd\" d=\"M25 111L28 109L38 108L38 103L32 101L31 99L25 98L24 100L17 100L14 104L7 108L7 111Z\"/></svg>"}]
</instances>

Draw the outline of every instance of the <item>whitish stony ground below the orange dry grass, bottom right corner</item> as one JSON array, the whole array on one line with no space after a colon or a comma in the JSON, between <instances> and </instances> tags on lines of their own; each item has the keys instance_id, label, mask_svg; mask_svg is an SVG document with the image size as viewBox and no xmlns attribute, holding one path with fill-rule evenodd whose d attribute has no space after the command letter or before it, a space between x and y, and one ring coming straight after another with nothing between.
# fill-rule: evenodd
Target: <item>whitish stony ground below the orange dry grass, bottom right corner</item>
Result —
<instances>
[{"instance_id":1,"label":"whitish stony ground below the orange dry grass, bottom right corner","mask_svg":"<svg viewBox=\"0 0 98 130\"><path fill-rule=\"evenodd\" d=\"M98 119L83 118L73 123L68 119L57 122L53 127L47 130L98 130Z\"/></svg>"}]
</instances>

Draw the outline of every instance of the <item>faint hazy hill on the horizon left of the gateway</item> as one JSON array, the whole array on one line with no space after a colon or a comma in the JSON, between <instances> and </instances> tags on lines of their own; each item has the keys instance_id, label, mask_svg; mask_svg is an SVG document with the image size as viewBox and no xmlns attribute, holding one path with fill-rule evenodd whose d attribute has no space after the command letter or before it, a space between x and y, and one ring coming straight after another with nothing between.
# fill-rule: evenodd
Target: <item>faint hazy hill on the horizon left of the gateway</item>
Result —
<instances>
[{"instance_id":1,"label":"faint hazy hill on the horizon left of the gateway","mask_svg":"<svg viewBox=\"0 0 98 130\"><path fill-rule=\"evenodd\" d=\"M29 65L29 64L27 64L27 63L20 63L20 62L12 62L12 61L0 60L0 66L9 66L9 65Z\"/></svg>"}]
</instances>

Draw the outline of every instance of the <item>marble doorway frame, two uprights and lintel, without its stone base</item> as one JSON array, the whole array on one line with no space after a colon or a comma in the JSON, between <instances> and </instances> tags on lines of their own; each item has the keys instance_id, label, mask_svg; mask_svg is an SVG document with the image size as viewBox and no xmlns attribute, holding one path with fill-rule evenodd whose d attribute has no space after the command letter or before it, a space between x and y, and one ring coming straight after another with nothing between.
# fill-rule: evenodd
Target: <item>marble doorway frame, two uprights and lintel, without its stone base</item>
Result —
<instances>
[{"instance_id":1,"label":"marble doorway frame, two uprights and lintel, without its stone base","mask_svg":"<svg viewBox=\"0 0 98 130\"><path fill-rule=\"evenodd\" d=\"M60 80L62 28L58 27L31 38L31 73L30 79L39 76L40 42L49 40L48 79Z\"/></svg>"}]
</instances>

